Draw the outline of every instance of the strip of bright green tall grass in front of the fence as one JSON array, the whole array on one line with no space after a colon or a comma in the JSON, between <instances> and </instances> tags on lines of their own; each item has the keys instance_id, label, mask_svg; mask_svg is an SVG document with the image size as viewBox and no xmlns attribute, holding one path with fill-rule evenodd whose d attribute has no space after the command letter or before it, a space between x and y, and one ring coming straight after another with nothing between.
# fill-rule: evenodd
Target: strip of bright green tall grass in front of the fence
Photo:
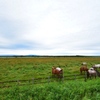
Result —
<instances>
[{"instance_id":1,"label":"strip of bright green tall grass in front of the fence","mask_svg":"<svg viewBox=\"0 0 100 100\"><path fill-rule=\"evenodd\" d=\"M100 80L70 81L12 87L0 91L0 100L100 100Z\"/></svg>"}]
</instances>

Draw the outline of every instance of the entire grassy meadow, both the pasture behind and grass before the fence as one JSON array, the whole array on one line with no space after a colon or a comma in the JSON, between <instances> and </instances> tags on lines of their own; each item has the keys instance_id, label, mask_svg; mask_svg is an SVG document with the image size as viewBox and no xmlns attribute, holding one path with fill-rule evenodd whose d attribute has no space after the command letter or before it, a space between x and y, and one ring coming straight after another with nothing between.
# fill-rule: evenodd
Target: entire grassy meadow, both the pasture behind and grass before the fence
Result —
<instances>
[{"instance_id":1,"label":"entire grassy meadow, both the pasture behind and grass before the fence","mask_svg":"<svg viewBox=\"0 0 100 100\"><path fill-rule=\"evenodd\" d=\"M51 77L52 66L61 67L64 76L80 74L82 62L88 68L100 63L100 57L30 57L0 58L0 82ZM56 79L53 79L56 80ZM95 80L95 81L94 81ZM9 88L0 88L0 100L99 100L100 79L54 81L45 84L15 83ZM93 96L93 97L92 97Z\"/></svg>"}]
</instances>

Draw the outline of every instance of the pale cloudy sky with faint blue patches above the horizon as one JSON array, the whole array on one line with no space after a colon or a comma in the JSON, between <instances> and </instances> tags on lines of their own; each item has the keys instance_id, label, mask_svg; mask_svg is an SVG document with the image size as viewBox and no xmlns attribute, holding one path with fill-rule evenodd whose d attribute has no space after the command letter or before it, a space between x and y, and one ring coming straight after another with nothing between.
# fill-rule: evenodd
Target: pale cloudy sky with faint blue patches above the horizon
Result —
<instances>
[{"instance_id":1,"label":"pale cloudy sky with faint blue patches above the horizon","mask_svg":"<svg viewBox=\"0 0 100 100\"><path fill-rule=\"evenodd\" d=\"M0 55L100 55L100 0L0 0Z\"/></svg>"}]
</instances>

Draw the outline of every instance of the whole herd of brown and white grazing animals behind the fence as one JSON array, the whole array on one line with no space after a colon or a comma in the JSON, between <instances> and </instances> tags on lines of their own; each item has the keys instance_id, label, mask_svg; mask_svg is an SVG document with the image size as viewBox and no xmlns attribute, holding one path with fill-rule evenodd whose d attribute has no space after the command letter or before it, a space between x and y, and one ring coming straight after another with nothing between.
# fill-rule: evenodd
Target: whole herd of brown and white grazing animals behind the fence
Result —
<instances>
[{"instance_id":1,"label":"whole herd of brown and white grazing animals behind the fence","mask_svg":"<svg viewBox=\"0 0 100 100\"><path fill-rule=\"evenodd\" d=\"M92 66L91 68L87 67L87 63L83 62L82 66L80 67L80 74L82 74L82 72L86 73L87 78L91 78L91 77L95 77L97 76L97 74L100 74L97 69L100 68L100 64L95 64L94 66ZM63 77L63 69L59 68L59 67L52 67L52 75L56 75L58 78L62 78Z\"/></svg>"}]
</instances>

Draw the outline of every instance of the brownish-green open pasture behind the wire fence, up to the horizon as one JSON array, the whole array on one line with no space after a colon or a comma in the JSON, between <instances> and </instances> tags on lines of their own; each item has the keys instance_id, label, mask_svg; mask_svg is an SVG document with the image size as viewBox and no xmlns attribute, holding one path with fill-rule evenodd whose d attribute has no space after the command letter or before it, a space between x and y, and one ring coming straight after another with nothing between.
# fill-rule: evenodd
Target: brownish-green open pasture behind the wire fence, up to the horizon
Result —
<instances>
[{"instance_id":1,"label":"brownish-green open pasture behind the wire fence, up to the horizon","mask_svg":"<svg viewBox=\"0 0 100 100\"><path fill-rule=\"evenodd\" d=\"M0 82L51 77L52 66L64 70L64 76L80 74L82 62L90 68L100 62L100 57L37 57L0 58Z\"/></svg>"}]
</instances>

